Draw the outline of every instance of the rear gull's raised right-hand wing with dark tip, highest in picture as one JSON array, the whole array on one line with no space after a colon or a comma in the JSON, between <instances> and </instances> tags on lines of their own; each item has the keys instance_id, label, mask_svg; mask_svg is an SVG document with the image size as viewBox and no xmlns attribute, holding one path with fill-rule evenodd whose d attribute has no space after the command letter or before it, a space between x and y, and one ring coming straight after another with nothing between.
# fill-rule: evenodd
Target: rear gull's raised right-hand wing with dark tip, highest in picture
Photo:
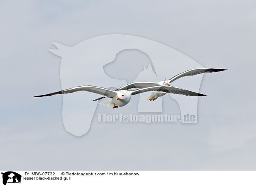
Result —
<instances>
[{"instance_id":1,"label":"rear gull's raised right-hand wing with dark tip, highest in picture","mask_svg":"<svg viewBox=\"0 0 256 186\"><path fill-rule=\"evenodd\" d=\"M195 69L190 69L187 70L183 73L180 73L168 80L168 83L171 83L172 81L175 81L178 78L184 77L184 76L195 76L197 74L202 74L202 73L215 73L215 72L220 72L223 70L227 69L217 69L217 68L195 68Z\"/></svg>"}]
</instances>

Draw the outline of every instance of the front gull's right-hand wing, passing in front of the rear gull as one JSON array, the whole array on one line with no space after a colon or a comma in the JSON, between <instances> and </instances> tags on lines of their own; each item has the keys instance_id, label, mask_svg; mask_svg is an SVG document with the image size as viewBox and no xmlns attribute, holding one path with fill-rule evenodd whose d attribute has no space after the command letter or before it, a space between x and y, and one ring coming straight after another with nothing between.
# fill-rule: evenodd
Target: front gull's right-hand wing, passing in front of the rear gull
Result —
<instances>
[{"instance_id":1,"label":"front gull's right-hand wing, passing in front of the rear gull","mask_svg":"<svg viewBox=\"0 0 256 186\"><path fill-rule=\"evenodd\" d=\"M170 85L158 85L154 87L147 87L147 88L142 88L138 90L131 91L131 95L136 95L144 92L162 92L162 93L173 93L173 94L183 94L185 96L206 96L201 93L196 93L192 92L186 89L178 88L178 87L173 87Z\"/></svg>"}]
</instances>

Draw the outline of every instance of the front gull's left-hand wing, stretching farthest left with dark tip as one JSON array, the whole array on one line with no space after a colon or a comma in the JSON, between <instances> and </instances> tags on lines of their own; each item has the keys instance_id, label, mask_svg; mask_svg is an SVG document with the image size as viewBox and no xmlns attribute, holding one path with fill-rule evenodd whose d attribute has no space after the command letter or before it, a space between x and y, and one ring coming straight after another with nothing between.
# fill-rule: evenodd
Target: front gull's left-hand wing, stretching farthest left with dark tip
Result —
<instances>
[{"instance_id":1,"label":"front gull's left-hand wing, stretching farthest left with dark tip","mask_svg":"<svg viewBox=\"0 0 256 186\"><path fill-rule=\"evenodd\" d=\"M96 93L96 94L106 96L108 98L116 96L116 92L113 91L113 90L109 90L109 89L102 88L102 87L95 87L95 86L85 85L85 86L73 87L73 88L69 88L69 89L66 89L66 90L61 90L61 91L58 91L58 92L44 94L44 95L40 95L40 96L34 96L34 97L52 96L52 95L55 95L55 94L67 94L67 93L74 93L74 92L78 92L78 91L92 92L92 93Z\"/></svg>"}]
</instances>

